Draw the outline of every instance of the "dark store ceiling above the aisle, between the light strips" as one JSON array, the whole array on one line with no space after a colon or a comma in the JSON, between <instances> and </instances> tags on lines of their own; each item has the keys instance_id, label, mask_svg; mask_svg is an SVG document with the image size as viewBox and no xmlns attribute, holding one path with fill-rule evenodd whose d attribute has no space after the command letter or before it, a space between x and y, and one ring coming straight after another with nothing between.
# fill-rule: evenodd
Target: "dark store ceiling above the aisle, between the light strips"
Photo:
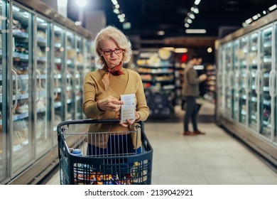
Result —
<instances>
[{"instance_id":1,"label":"dark store ceiling above the aisle, between the light strips","mask_svg":"<svg viewBox=\"0 0 277 199\"><path fill-rule=\"evenodd\" d=\"M120 28L130 38L141 43L173 43L174 45L205 45L205 41L213 42L230 31L241 28L246 19L276 4L276 0L202 0L197 6L199 14L195 14L190 28L205 29L205 34L185 33L184 20L194 5L195 0L117 0L126 20L131 23L130 29L123 29L110 0L89 0L87 11L99 9L107 17L107 25ZM68 1L68 17L74 20L74 2ZM164 31L158 36L158 31ZM190 38L196 38L195 42Z\"/></svg>"}]
</instances>

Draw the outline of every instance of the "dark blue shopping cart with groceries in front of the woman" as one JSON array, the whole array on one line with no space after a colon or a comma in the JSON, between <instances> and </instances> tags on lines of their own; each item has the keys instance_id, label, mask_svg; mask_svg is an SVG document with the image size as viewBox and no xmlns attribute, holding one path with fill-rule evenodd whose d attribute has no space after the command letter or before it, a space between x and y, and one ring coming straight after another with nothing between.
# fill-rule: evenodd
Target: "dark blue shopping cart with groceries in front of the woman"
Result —
<instances>
[{"instance_id":1,"label":"dark blue shopping cart with groceries in front of the woman","mask_svg":"<svg viewBox=\"0 0 277 199\"><path fill-rule=\"evenodd\" d=\"M151 184L153 149L144 133L143 122L136 123L134 131L88 132L87 130L90 124L116 122L119 123L118 120L85 119L58 124L60 184ZM136 147L128 149L131 134L141 140L139 149ZM92 141L96 139L109 139L109 146L105 149L94 146ZM119 143L123 144L119 146Z\"/></svg>"}]
</instances>

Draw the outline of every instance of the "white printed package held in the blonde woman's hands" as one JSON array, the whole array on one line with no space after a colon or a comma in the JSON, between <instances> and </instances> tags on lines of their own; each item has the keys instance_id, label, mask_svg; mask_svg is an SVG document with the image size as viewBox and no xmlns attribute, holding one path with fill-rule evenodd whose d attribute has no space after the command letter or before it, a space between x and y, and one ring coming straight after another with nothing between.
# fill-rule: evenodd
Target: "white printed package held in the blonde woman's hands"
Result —
<instances>
[{"instance_id":1,"label":"white printed package held in the blonde woman's hands","mask_svg":"<svg viewBox=\"0 0 277 199\"><path fill-rule=\"evenodd\" d=\"M124 102L124 104L121 105L120 121L126 122L127 119L135 120L136 95L120 95L120 100Z\"/></svg>"}]
</instances>

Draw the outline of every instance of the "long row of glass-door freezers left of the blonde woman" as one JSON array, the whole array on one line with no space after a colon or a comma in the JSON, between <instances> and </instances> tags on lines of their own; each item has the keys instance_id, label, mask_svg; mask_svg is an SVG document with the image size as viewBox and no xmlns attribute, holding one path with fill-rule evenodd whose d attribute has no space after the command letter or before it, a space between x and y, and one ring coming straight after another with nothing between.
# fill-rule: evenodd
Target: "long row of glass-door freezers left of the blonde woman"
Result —
<instances>
[{"instance_id":1,"label":"long row of glass-door freezers left of the blonde woman","mask_svg":"<svg viewBox=\"0 0 277 199\"><path fill-rule=\"evenodd\" d=\"M35 184L58 165L57 125L84 119L91 67L89 31L24 3L0 1L0 184Z\"/></svg>"}]
</instances>

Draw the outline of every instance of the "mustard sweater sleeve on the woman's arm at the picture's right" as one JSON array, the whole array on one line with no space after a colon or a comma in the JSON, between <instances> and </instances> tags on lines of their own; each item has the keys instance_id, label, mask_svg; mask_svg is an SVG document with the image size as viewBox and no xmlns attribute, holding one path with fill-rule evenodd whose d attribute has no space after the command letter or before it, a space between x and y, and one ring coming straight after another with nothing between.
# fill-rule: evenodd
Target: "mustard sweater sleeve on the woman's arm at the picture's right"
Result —
<instances>
[{"instance_id":1,"label":"mustard sweater sleeve on the woman's arm at the picture's right","mask_svg":"<svg viewBox=\"0 0 277 199\"><path fill-rule=\"evenodd\" d=\"M146 103L146 97L144 95L143 84L141 81L141 76L138 74L138 90L136 92L136 111L139 113L139 121L145 121L149 116L149 108Z\"/></svg>"}]
</instances>

